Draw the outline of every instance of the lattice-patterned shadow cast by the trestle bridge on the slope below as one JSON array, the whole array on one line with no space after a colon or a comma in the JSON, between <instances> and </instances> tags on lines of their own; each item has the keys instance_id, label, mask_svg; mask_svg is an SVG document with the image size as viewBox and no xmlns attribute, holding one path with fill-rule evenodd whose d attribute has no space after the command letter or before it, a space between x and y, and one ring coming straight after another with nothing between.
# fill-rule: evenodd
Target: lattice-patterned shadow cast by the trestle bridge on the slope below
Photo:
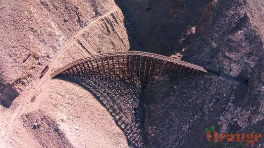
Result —
<instances>
[{"instance_id":1,"label":"lattice-patterned shadow cast by the trestle bridge on the slope below","mask_svg":"<svg viewBox=\"0 0 264 148\"><path fill-rule=\"evenodd\" d=\"M57 76L91 92L124 132L131 147L144 147L144 107L141 82L137 77Z\"/></svg>"}]
</instances>

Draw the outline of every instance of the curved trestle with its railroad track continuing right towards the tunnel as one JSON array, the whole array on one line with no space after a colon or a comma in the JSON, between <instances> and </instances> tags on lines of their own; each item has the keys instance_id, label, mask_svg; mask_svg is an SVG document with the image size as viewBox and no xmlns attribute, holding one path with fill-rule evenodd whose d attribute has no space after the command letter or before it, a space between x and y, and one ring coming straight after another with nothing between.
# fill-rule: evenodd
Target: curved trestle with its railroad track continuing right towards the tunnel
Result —
<instances>
[{"instance_id":1,"label":"curved trestle with its railroad track continuing right towards the tunnel","mask_svg":"<svg viewBox=\"0 0 264 148\"><path fill-rule=\"evenodd\" d=\"M150 59L150 60L148 61L146 59ZM158 64L157 64L157 60L159 61ZM156 61L156 64L152 63L153 61ZM90 64L88 64L87 62L89 62ZM111 66L109 66L109 63ZM248 79L237 79L234 77L230 77L228 75L220 74L219 72L214 72L212 70L205 69L201 66L197 66L188 62L176 60L155 53L143 52L143 51L112 52L112 53L105 53L105 54L79 59L55 71L53 74L51 74L51 78L59 74L87 75L89 73L95 73L95 71L97 71L96 73L98 72L100 73L100 71L101 72L109 71L109 69L115 70L117 72L120 72L120 69L123 72L128 72L128 71L131 72L130 69L131 65L132 67L134 67L134 74L138 77L142 76L142 74L144 74L143 76L145 76L146 71L149 71L149 73L150 72L154 73L152 74L152 77L162 76L162 74L163 75L164 74L176 74L176 75L177 74L184 74L184 75L213 74L240 84L247 84L249 82ZM168 65L170 66L168 67ZM90 69L90 66L93 67L93 70ZM75 70L73 70L73 68ZM136 71L138 72L138 74L136 74ZM157 75L156 74L157 72L160 74ZM148 76L148 78L150 77Z\"/></svg>"}]
</instances>

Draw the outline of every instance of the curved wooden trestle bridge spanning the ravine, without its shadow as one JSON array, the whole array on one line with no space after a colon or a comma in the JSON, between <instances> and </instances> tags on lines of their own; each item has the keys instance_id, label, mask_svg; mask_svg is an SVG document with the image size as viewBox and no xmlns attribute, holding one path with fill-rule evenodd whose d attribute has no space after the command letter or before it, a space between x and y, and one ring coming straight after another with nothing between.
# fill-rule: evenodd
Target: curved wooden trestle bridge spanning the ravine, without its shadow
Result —
<instances>
[{"instance_id":1,"label":"curved wooden trestle bridge spanning the ravine, without its shadow","mask_svg":"<svg viewBox=\"0 0 264 148\"><path fill-rule=\"evenodd\" d=\"M91 56L70 63L51 76L93 76L112 77L113 75L136 76L140 80L149 80L166 74L196 75L207 74L204 68L175 60L170 57L141 52L125 51Z\"/></svg>"}]
</instances>

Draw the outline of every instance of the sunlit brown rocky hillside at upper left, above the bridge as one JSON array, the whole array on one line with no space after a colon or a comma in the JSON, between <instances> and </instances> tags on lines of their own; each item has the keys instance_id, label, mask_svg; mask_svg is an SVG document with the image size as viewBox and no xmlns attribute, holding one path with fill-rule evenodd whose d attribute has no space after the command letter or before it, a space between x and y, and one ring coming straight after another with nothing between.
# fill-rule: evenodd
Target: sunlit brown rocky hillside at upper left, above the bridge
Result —
<instances>
[{"instance_id":1,"label":"sunlit brown rocky hillside at upper left, above the bridge","mask_svg":"<svg viewBox=\"0 0 264 148\"><path fill-rule=\"evenodd\" d=\"M77 37L80 43L76 39L78 47L75 48L82 45L81 38L93 38L91 45L88 45L90 52L105 52L102 47L109 44L113 46L116 41L114 37L108 43L100 43L99 40L124 31L122 28L115 32L115 28L111 28L115 23L110 20L116 22L120 18L115 16L118 8L112 0L2 0L0 5L0 102L5 107L9 107L21 91L34 84L46 65L54 61L59 51L71 43L78 33L85 37ZM113 18L105 18L107 13L113 13L114 15L109 14ZM121 14L120 12L119 15ZM97 19L101 19L102 23L93 24ZM103 26L99 28L94 25ZM93 31L89 31L89 35L80 33L83 29L88 29L88 26L93 26L90 27ZM123 34L117 33L117 36L123 41ZM126 46L127 44L121 49L126 49ZM23 63L29 54L32 55Z\"/></svg>"}]
</instances>

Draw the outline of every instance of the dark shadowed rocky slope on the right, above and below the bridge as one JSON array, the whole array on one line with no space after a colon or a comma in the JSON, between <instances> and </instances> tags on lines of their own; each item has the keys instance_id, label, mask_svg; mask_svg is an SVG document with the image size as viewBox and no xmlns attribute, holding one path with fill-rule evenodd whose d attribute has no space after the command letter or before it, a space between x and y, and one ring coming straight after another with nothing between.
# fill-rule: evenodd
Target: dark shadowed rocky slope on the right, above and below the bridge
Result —
<instances>
[{"instance_id":1,"label":"dark shadowed rocky slope on the right, above and below the bridge","mask_svg":"<svg viewBox=\"0 0 264 148\"><path fill-rule=\"evenodd\" d=\"M205 146L205 128L211 125L222 133L263 132L262 0L116 1L131 49L181 55L181 60L249 80L242 85L217 77L169 77L150 83L145 94L148 147Z\"/></svg>"}]
</instances>

